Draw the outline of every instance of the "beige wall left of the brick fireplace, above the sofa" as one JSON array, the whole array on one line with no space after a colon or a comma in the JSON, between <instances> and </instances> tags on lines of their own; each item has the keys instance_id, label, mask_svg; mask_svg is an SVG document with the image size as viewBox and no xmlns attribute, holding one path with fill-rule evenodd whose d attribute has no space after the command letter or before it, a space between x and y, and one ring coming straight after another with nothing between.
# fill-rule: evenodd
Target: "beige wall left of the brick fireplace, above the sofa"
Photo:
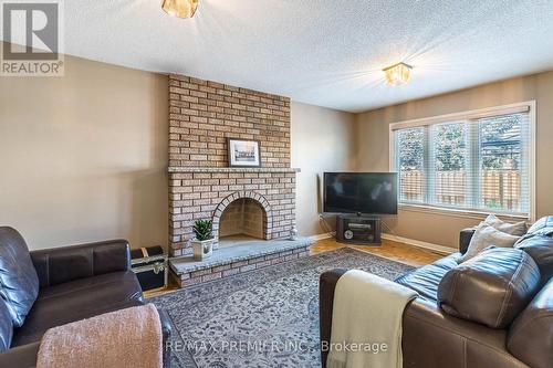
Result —
<instances>
[{"instance_id":1,"label":"beige wall left of the brick fireplace, above the sofa","mask_svg":"<svg viewBox=\"0 0 553 368\"><path fill-rule=\"evenodd\" d=\"M31 249L167 244L167 76L65 57L0 77L0 224Z\"/></svg>"}]
</instances>

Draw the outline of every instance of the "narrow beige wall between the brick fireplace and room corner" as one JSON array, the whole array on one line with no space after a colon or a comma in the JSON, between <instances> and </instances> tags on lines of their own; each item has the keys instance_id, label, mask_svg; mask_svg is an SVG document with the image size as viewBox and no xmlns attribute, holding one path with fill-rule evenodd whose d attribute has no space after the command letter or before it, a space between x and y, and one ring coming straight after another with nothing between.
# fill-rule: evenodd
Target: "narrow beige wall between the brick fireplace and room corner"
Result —
<instances>
[{"instance_id":1,"label":"narrow beige wall between the brick fireplace and room corner","mask_svg":"<svg viewBox=\"0 0 553 368\"><path fill-rule=\"evenodd\" d=\"M317 178L324 171L355 169L355 115L296 102L291 115L292 167L302 170L296 182L298 230L304 236L321 234Z\"/></svg>"}]
</instances>

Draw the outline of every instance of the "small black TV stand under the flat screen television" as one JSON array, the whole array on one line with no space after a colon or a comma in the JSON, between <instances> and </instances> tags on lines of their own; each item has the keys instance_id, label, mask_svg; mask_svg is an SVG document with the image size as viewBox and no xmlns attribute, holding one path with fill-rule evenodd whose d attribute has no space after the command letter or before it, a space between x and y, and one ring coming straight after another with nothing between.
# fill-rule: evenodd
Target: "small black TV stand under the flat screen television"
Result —
<instances>
[{"instance_id":1,"label":"small black TV stand under the flat screen television","mask_svg":"<svg viewBox=\"0 0 553 368\"><path fill-rule=\"evenodd\" d=\"M346 244L380 245L380 218L376 215L338 214L336 241Z\"/></svg>"}]
</instances>

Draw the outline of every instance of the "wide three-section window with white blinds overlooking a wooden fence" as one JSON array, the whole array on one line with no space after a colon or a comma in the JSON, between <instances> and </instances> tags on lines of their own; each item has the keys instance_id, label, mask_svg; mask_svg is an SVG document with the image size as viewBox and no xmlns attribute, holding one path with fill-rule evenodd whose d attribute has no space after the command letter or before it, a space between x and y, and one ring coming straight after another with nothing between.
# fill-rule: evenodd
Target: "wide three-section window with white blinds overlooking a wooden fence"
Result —
<instances>
[{"instance_id":1,"label":"wide three-section window with white blinds overlooking a wooden fence","mask_svg":"<svg viewBox=\"0 0 553 368\"><path fill-rule=\"evenodd\" d=\"M392 124L400 204L530 219L533 106Z\"/></svg>"}]
</instances>

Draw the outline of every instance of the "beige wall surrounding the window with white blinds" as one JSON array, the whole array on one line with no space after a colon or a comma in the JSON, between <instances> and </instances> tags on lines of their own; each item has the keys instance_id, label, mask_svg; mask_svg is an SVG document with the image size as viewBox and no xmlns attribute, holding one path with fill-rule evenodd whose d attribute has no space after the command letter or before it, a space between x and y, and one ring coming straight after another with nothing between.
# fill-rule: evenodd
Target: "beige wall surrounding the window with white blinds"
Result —
<instances>
[{"instance_id":1,"label":"beige wall surrounding the window with white blinds","mask_svg":"<svg viewBox=\"0 0 553 368\"><path fill-rule=\"evenodd\" d=\"M357 115L359 170L388 170L388 125L517 102L536 101L536 215L553 213L553 72L512 78ZM396 235L457 246L459 230L479 219L400 211L386 219Z\"/></svg>"}]
</instances>

